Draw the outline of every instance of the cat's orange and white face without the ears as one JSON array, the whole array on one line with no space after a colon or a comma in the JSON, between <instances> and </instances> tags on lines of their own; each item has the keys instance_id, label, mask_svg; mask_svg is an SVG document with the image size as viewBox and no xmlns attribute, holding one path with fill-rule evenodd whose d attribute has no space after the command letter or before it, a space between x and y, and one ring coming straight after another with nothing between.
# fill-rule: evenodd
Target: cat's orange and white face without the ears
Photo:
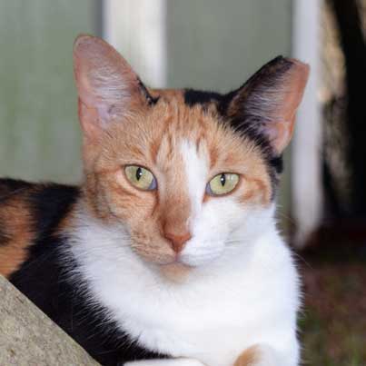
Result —
<instances>
[{"instance_id":1,"label":"cat's orange and white face without the ears","mask_svg":"<svg viewBox=\"0 0 366 366\"><path fill-rule=\"evenodd\" d=\"M261 149L225 128L217 113L185 105L180 92L159 94L155 105L104 135L91 198L99 214L126 225L144 259L200 265L223 252L232 232L268 210L271 177ZM220 175L228 182L217 187L214 177L221 173L235 174L238 182Z\"/></svg>"}]
</instances>

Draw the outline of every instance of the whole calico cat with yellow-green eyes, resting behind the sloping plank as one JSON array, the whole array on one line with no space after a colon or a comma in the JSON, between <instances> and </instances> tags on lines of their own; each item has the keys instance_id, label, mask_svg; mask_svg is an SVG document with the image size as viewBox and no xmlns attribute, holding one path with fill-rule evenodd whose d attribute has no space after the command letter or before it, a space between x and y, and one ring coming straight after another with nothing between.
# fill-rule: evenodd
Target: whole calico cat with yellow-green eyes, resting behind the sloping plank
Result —
<instances>
[{"instance_id":1,"label":"whole calico cat with yellow-green eyes, resting behind the sloping plank","mask_svg":"<svg viewBox=\"0 0 366 366\"><path fill-rule=\"evenodd\" d=\"M84 183L0 180L0 273L103 365L298 365L273 214L308 73L280 56L228 94L153 90L79 36Z\"/></svg>"}]
</instances>

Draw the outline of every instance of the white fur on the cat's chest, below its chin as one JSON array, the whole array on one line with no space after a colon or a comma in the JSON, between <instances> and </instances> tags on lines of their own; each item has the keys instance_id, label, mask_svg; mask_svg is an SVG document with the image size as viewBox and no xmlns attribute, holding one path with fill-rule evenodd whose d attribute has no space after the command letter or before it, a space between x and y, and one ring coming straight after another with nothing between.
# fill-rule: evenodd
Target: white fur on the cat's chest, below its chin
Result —
<instances>
[{"instance_id":1,"label":"white fur on the cat's chest, below its chin","mask_svg":"<svg viewBox=\"0 0 366 366\"><path fill-rule=\"evenodd\" d=\"M83 225L71 248L92 299L141 345L232 366L246 348L264 343L281 355L282 366L297 365L298 279L275 230L242 255L194 270L184 283L163 280L126 240L93 223Z\"/></svg>"}]
</instances>

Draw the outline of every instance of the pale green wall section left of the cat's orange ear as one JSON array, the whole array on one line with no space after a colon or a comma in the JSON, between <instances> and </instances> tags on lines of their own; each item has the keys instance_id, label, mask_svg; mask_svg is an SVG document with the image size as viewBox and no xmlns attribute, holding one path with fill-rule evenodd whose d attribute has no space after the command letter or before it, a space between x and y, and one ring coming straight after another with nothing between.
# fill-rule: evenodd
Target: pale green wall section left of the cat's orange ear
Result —
<instances>
[{"instance_id":1,"label":"pale green wall section left of the cat's orange ear","mask_svg":"<svg viewBox=\"0 0 366 366\"><path fill-rule=\"evenodd\" d=\"M72 47L95 33L91 0L0 0L0 176L77 182Z\"/></svg>"}]
</instances>

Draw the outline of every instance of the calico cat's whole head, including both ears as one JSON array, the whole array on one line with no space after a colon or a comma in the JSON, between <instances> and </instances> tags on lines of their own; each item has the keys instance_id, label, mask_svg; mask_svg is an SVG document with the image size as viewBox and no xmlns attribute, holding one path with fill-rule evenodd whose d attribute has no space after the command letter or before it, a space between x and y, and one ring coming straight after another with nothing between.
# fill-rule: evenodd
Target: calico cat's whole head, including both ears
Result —
<instances>
[{"instance_id":1,"label":"calico cat's whole head, including both ears","mask_svg":"<svg viewBox=\"0 0 366 366\"><path fill-rule=\"evenodd\" d=\"M206 265L273 224L307 65L277 57L229 94L153 90L82 35L74 70L89 208L124 227L144 261Z\"/></svg>"}]
</instances>

